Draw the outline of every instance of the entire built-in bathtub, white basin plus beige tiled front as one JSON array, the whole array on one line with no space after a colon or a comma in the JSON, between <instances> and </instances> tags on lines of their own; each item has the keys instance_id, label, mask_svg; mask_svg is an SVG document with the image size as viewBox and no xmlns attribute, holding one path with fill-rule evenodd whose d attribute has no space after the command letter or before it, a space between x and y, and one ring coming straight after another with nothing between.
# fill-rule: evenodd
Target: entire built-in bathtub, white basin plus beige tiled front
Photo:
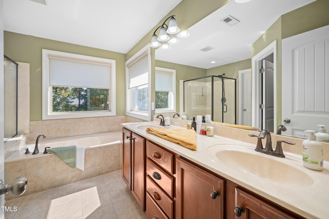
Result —
<instances>
[{"instance_id":1,"label":"entire built-in bathtub, white basin plus beige tiled front","mask_svg":"<svg viewBox=\"0 0 329 219\"><path fill-rule=\"evenodd\" d=\"M12 182L18 176L26 176L29 183L23 195L29 195L117 171L121 169L122 162L121 138L120 131L50 140L41 137L38 154L32 154L35 144L29 144L20 146L5 160L5 180ZM84 171L70 168L54 154L43 154L45 147L72 145L86 149ZM26 148L29 154L25 154ZM12 198L15 196L6 194L6 200Z\"/></svg>"}]
</instances>

